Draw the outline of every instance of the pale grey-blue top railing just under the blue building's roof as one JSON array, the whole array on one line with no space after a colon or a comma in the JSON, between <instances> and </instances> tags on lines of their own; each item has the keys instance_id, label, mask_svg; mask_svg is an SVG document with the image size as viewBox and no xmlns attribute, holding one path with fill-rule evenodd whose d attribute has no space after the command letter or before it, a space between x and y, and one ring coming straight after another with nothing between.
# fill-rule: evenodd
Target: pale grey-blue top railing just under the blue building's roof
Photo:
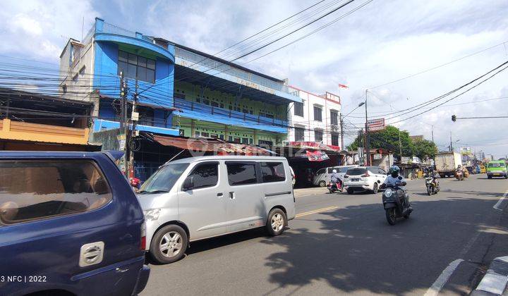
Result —
<instances>
[{"instance_id":1,"label":"pale grey-blue top railing just under the blue building's roof","mask_svg":"<svg viewBox=\"0 0 508 296\"><path fill-rule=\"evenodd\" d=\"M191 62L191 65L204 66L210 70L217 70L219 72L227 73L229 75L241 78L243 80L248 80L264 87L269 87L272 90L288 92L288 87L280 82L275 82L273 80L261 77L260 75L234 68L232 66L226 65L225 63L215 61L212 58L205 58L204 56L200 56L199 54L195 54L192 51L188 51L186 49L175 47L175 57L183 58L184 60Z\"/></svg>"}]
</instances>

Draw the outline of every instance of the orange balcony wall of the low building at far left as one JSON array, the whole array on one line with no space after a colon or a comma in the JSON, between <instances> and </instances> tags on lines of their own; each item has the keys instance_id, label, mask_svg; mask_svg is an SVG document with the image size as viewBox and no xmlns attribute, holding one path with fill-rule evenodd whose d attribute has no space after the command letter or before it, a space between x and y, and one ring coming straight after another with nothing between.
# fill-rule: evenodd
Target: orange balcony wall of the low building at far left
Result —
<instances>
[{"instance_id":1,"label":"orange balcony wall of the low building at far left","mask_svg":"<svg viewBox=\"0 0 508 296\"><path fill-rule=\"evenodd\" d=\"M68 128L59 125L25 123L22 121L0 120L0 139L63 144L87 144L87 128Z\"/></svg>"}]
</instances>

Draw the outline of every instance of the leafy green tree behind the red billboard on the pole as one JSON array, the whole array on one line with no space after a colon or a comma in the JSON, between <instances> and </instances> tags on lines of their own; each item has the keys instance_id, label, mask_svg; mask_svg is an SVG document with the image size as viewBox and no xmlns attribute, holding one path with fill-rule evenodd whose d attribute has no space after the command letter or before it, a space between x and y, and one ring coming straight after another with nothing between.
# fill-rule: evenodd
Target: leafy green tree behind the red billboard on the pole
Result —
<instances>
[{"instance_id":1,"label":"leafy green tree behind the red billboard on the pole","mask_svg":"<svg viewBox=\"0 0 508 296\"><path fill-rule=\"evenodd\" d=\"M370 148L387 149L400 159L399 134L402 146L402 156L413 156L414 147L413 142L409 137L409 132L399 130L392 125L387 125L385 130L370 132ZM349 145L348 149L358 149L359 140L360 139L356 137L356 139Z\"/></svg>"}]
</instances>

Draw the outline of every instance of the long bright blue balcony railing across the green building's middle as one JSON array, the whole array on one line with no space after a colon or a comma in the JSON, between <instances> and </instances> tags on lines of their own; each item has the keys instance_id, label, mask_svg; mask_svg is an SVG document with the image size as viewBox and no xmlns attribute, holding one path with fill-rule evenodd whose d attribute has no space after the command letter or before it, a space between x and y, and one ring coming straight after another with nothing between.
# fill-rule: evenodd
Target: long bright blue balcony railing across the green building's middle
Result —
<instances>
[{"instance_id":1,"label":"long bright blue balcony railing across the green building's middle","mask_svg":"<svg viewBox=\"0 0 508 296\"><path fill-rule=\"evenodd\" d=\"M222 116L223 118L232 118L232 119L236 119L236 120L239 119L242 121L246 121L247 123L257 123L257 124L262 124L262 125L274 125L274 126L278 126L278 127L282 127L282 128L286 128L288 126L287 121L285 121L285 120L268 118L268 117L264 117L264 116L253 115L253 114L238 112L238 111L234 111L234 110L209 106L209 105L205 105L205 104L196 103L194 101L187 101L186 99L174 98L174 104L175 104L175 108L183 110L183 113L185 113L185 111L195 111L195 112L202 113L204 115L202 117L203 121L213 121L213 117L211 117L210 119L207 119L208 118L207 115L210 115L210 116ZM248 125L246 125L246 128L248 128Z\"/></svg>"}]
</instances>

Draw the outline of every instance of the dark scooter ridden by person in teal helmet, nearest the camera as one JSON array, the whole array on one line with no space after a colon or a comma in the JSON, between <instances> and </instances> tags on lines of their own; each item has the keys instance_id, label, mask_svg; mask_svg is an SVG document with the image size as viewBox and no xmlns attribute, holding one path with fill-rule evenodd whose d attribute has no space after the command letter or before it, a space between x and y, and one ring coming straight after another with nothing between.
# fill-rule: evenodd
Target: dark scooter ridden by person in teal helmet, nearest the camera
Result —
<instances>
[{"instance_id":1,"label":"dark scooter ridden by person in teal helmet, nearest the camera","mask_svg":"<svg viewBox=\"0 0 508 296\"><path fill-rule=\"evenodd\" d=\"M405 185L404 183L401 185ZM413 211L409 204L409 195L399 185L386 185L386 190L382 195L383 207L389 225L394 225L397 218L409 218Z\"/></svg>"}]
</instances>

